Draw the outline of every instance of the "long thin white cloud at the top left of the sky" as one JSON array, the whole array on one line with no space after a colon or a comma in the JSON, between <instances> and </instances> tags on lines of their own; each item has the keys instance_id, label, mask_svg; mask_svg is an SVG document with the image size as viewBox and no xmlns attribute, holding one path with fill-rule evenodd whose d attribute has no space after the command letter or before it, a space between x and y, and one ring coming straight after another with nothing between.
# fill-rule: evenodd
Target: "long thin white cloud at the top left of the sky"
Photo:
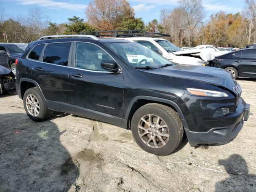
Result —
<instances>
[{"instance_id":1,"label":"long thin white cloud at the top left of the sky","mask_svg":"<svg viewBox=\"0 0 256 192\"><path fill-rule=\"evenodd\" d=\"M74 11L82 11L86 9L86 5L84 4L56 2L52 0L16 0L16 2L22 5L38 5L41 7L48 7L50 9L66 9Z\"/></svg>"}]
</instances>

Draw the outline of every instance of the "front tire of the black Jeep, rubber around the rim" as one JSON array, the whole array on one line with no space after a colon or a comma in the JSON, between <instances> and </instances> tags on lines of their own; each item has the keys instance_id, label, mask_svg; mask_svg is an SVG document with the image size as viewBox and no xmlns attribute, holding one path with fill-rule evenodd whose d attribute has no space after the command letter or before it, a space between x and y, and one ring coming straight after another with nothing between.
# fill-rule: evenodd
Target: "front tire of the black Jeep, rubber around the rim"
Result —
<instances>
[{"instance_id":1,"label":"front tire of the black Jeep, rubber around the rim","mask_svg":"<svg viewBox=\"0 0 256 192\"><path fill-rule=\"evenodd\" d=\"M144 143L140 138L138 124L141 122L140 119L146 116L147 114L154 114L155 116L160 117L168 126L169 140L161 148L152 148L146 145L146 143ZM132 117L131 129L132 129L132 135L134 137L134 140L136 141L138 146L140 146L140 148L142 148L144 151L158 155L158 156L165 156L174 152L174 150L176 150L176 148L180 145L180 142L182 141L183 131L184 131L183 125L178 113L168 106L157 104L157 103L149 103L140 107ZM151 134L152 134L152 131L151 131Z\"/></svg>"}]
</instances>

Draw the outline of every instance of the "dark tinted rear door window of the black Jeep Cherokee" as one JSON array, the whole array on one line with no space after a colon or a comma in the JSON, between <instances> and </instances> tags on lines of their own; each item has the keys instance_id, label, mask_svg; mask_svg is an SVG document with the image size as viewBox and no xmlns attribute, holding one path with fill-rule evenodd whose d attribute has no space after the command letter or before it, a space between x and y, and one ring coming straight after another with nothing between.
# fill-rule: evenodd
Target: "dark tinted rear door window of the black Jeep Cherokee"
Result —
<instances>
[{"instance_id":1,"label":"dark tinted rear door window of the black Jeep Cherokee","mask_svg":"<svg viewBox=\"0 0 256 192\"><path fill-rule=\"evenodd\" d=\"M68 54L71 43L48 44L44 51L43 62L68 66Z\"/></svg>"}]
</instances>

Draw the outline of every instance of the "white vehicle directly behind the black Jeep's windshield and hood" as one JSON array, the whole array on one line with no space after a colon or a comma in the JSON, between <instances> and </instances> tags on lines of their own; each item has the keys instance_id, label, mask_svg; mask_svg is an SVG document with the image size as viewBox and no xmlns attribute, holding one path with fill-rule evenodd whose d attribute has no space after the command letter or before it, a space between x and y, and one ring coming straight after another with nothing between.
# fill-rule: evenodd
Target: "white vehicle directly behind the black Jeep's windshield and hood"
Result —
<instances>
[{"instance_id":1,"label":"white vehicle directly behind the black Jeep's windshield and hood","mask_svg":"<svg viewBox=\"0 0 256 192\"><path fill-rule=\"evenodd\" d=\"M122 39L140 43L177 64L205 66L208 61L215 58L214 54L209 50L193 49L182 51L170 41L162 38L127 37Z\"/></svg>"}]
</instances>

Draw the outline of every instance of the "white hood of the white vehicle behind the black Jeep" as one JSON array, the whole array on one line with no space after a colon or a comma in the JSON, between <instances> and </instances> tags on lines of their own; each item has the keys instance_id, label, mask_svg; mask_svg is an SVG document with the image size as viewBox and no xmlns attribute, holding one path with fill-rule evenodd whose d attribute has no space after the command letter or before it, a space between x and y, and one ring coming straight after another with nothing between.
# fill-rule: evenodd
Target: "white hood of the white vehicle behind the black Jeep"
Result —
<instances>
[{"instance_id":1,"label":"white hood of the white vehicle behind the black Jeep","mask_svg":"<svg viewBox=\"0 0 256 192\"><path fill-rule=\"evenodd\" d=\"M186 55L192 54L195 56L199 56L204 61L210 61L214 59L214 54L210 50L203 50L203 49L191 49L186 51L176 51L172 52L175 55Z\"/></svg>"}]
</instances>

